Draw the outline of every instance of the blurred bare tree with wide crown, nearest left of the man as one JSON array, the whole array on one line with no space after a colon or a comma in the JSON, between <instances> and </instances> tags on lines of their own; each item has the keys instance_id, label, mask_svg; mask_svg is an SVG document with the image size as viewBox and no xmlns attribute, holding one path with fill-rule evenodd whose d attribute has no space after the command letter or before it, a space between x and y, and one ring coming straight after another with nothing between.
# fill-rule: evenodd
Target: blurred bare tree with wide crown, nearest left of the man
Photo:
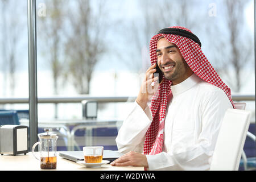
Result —
<instances>
[{"instance_id":1,"label":"blurred bare tree with wide crown, nearest left of the man","mask_svg":"<svg viewBox=\"0 0 256 182\"><path fill-rule=\"evenodd\" d=\"M65 44L67 74L79 94L89 94L94 67L106 51L104 35L108 25L105 3L77 0L69 9L70 29Z\"/></svg>"}]
</instances>

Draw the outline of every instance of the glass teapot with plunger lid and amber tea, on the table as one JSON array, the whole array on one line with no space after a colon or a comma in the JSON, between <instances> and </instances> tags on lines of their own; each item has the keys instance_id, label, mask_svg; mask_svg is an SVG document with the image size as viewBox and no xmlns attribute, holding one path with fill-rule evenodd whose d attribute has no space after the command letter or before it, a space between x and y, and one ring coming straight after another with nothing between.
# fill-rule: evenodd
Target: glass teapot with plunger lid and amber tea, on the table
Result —
<instances>
[{"instance_id":1,"label":"glass teapot with plunger lid and amber tea, on the table","mask_svg":"<svg viewBox=\"0 0 256 182\"><path fill-rule=\"evenodd\" d=\"M44 129L46 133L38 134L40 139L39 142L36 142L32 147L32 153L35 158L40 160L41 169L56 169L57 164L57 137L56 134L49 134L49 131L52 129ZM35 147L39 145L39 154L35 153Z\"/></svg>"}]
</instances>

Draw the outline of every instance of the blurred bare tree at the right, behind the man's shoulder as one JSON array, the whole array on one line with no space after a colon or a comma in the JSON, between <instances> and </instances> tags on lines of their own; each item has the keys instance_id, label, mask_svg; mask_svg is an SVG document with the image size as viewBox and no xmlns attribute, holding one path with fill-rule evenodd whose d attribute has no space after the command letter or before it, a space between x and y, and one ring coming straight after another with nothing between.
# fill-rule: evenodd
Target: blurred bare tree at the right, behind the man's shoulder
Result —
<instances>
[{"instance_id":1,"label":"blurred bare tree at the right, behind the man's shoulder","mask_svg":"<svg viewBox=\"0 0 256 182\"><path fill-rule=\"evenodd\" d=\"M222 16L223 26L220 22L214 27L215 40L212 40L212 47L217 72L222 79L232 88L233 92L240 92L242 86L249 80L249 72L246 67L253 63L252 50L253 42L246 30L245 6L248 1L225 0L222 2L224 15ZM221 36L220 36L221 35ZM216 37L218 39L216 40Z\"/></svg>"}]
</instances>

